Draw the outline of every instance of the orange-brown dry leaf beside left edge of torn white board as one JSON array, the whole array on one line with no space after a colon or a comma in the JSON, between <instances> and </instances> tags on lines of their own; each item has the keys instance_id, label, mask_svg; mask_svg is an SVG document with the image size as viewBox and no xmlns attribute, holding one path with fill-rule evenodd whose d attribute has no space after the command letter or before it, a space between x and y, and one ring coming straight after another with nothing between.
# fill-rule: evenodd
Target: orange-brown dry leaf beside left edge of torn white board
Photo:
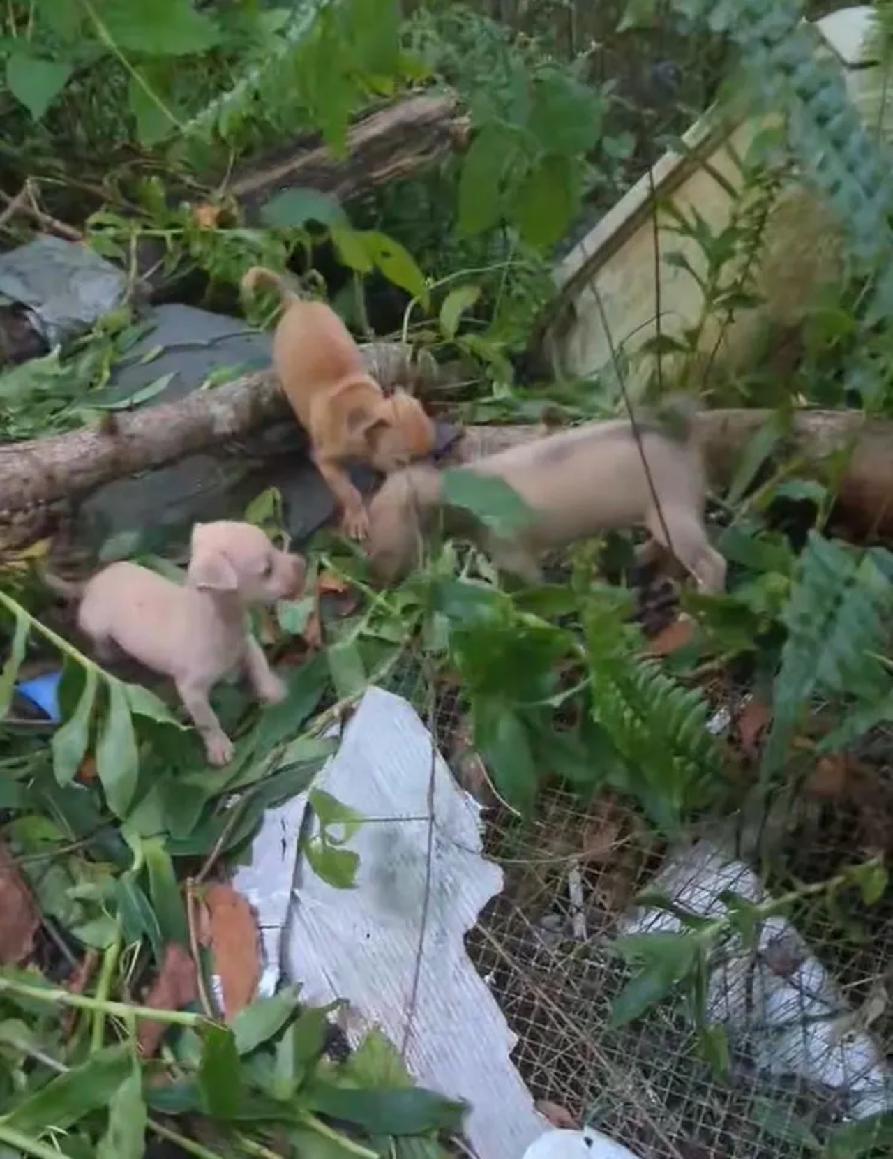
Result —
<instances>
[{"instance_id":1,"label":"orange-brown dry leaf beside left edge of torn white board","mask_svg":"<svg viewBox=\"0 0 893 1159\"><path fill-rule=\"evenodd\" d=\"M220 976L224 1014L230 1021L244 1009L261 981L261 938L254 911L232 885L212 885L205 894L211 918L211 952Z\"/></svg>"}]
</instances>

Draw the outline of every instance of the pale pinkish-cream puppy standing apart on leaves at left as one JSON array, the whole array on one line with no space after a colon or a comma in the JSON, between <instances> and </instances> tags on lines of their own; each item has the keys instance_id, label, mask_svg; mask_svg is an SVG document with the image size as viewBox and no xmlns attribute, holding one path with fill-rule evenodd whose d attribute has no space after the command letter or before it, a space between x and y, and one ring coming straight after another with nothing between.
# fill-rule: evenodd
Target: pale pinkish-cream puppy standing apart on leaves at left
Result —
<instances>
[{"instance_id":1,"label":"pale pinkish-cream puppy standing apart on leaves at left","mask_svg":"<svg viewBox=\"0 0 893 1159\"><path fill-rule=\"evenodd\" d=\"M307 567L272 546L248 523L197 523L184 585L137 563L112 563L85 584L47 571L46 585L79 599L78 625L100 656L117 646L155 672L173 677L180 699L202 734L212 765L226 765L233 742L208 694L221 677L243 668L261 700L276 704L285 685L250 635L246 611L300 595Z\"/></svg>"}]
</instances>

